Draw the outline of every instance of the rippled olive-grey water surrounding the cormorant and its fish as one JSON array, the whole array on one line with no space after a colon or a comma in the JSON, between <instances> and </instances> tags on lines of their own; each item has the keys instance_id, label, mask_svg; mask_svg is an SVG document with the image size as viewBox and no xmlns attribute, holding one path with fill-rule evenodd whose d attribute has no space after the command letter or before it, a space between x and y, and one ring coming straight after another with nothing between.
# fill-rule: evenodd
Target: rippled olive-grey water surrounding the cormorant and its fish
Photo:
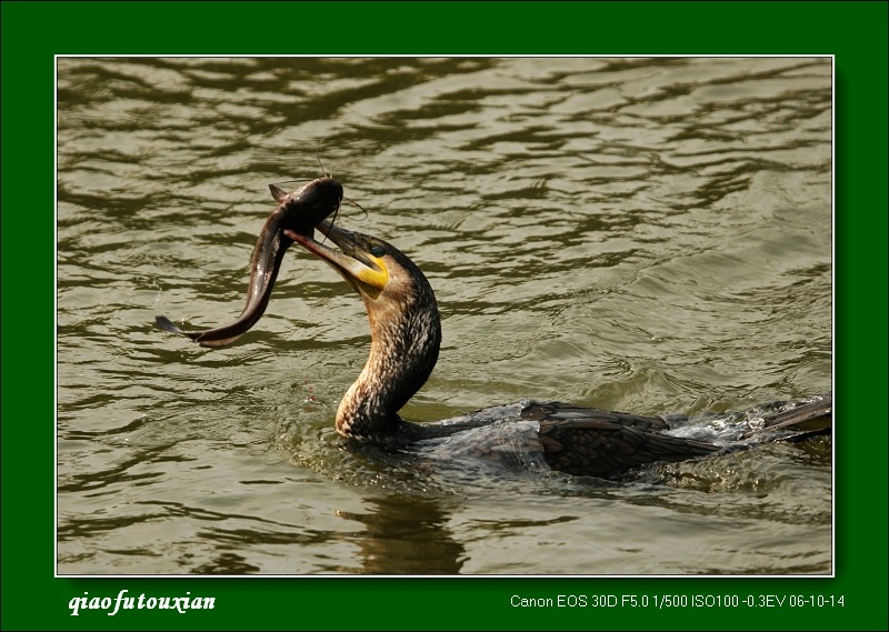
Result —
<instances>
[{"instance_id":1,"label":"rippled olive-grey water surrounding the cormorant and its fish","mask_svg":"<svg viewBox=\"0 0 889 632\"><path fill-rule=\"evenodd\" d=\"M229 349L153 318L236 317L268 183L323 169L367 210L338 221L439 298L403 417L828 392L831 80L812 58L60 59L58 572L830 573L829 440L631 483L427 467L337 438L368 325L307 253Z\"/></svg>"}]
</instances>

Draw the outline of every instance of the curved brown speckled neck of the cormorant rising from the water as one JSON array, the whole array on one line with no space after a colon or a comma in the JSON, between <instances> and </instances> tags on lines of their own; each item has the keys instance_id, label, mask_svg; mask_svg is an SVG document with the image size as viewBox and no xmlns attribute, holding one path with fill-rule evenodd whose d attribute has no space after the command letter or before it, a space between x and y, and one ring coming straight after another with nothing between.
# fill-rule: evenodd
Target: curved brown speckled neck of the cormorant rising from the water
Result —
<instances>
[{"instance_id":1,"label":"curved brown speckled neck of the cormorant rising from the water","mask_svg":"<svg viewBox=\"0 0 889 632\"><path fill-rule=\"evenodd\" d=\"M436 297L421 281L398 300L362 297L370 320L370 357L337 411L344 437L399 443L398 411L426 383L438 360L441 323Z\"/></svg>"}]
</instances>

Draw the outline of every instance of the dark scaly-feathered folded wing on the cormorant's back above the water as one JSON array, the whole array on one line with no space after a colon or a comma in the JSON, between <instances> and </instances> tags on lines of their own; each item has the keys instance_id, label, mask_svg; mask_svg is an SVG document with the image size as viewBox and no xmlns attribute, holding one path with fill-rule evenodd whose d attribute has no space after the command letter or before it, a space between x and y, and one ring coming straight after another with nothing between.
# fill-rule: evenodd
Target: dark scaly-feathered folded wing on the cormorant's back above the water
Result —
<instances>
[{"instance_id":1,"label":"dark scaly-feathered folded wing on the cormorant's back above the water","mask_svg":"<svg viewBox=\"0 0 889 632\"><path fill-rule=\"evenodd\" d=\"M657 428L660 424L656 422L663 423L656 418L580 407L567 415L557 412L540 419L543 457L553 470L607 479L646 463L685 461L720 450L709 443L640 430L647 422Z\"/></svg>"}]
</instances>

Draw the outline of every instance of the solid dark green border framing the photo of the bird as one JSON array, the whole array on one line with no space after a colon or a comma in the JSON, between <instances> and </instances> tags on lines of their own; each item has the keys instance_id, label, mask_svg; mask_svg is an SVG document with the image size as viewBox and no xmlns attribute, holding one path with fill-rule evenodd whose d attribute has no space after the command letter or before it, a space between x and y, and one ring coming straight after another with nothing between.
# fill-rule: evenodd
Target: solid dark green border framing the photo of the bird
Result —
<instances>
[{"instance_id":1,"label":"solid dark green border framing the photo of the bird","mask_svg":"<svg viewBox=\"0 0 889 632\"><path fill-rule=\"evenodd\" d=\"M3 2L2 629L886 630L887 18L886 2ZM53 54L213 52L836 54L836 578L54 579ZM217 606L69 615L121 589ZM846 603L513 609L513 593Z\"/></svg>"}]
</instances>

